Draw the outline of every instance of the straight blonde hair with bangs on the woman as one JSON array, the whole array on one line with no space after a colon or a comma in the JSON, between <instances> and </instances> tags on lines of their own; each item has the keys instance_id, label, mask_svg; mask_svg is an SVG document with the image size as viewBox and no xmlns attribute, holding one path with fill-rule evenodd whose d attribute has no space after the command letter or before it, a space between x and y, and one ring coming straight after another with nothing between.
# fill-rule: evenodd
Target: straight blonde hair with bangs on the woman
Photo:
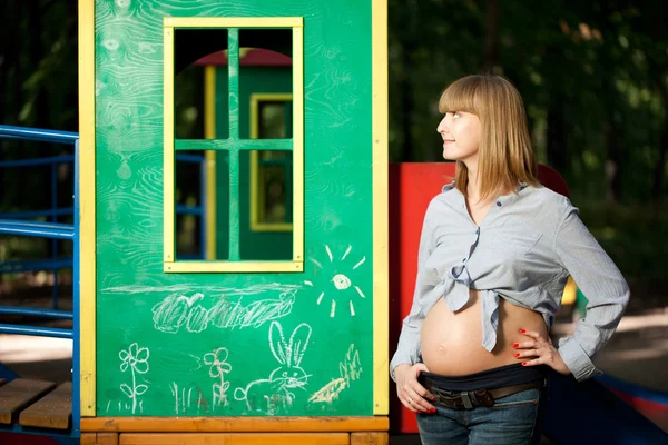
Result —
<instances>
[{"instance_id":1,"label":"straight blonde hair with bangs on the woman","mask_svg":"<svg viewBox=\"0 0 668 445\"><path fill-rule=\"evenodd\" d=\"M539 185L522 97L508 79L479 75L455 80L443 91L439 111L470 112L480 119L480 199L515 190L520 181ZM466 196L469 170L462 161L456 161L454 184Z\"/></svg>"}]
</instances>

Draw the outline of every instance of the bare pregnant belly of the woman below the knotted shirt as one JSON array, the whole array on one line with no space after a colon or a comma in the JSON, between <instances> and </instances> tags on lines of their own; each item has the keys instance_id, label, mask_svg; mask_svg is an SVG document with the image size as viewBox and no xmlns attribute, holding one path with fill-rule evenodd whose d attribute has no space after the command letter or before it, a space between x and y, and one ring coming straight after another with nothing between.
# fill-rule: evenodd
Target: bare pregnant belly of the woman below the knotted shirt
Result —
<instances>
[{"instance_id":1,"label":"bare pregnant belly of the woman below the knotted shirt","mask_svg":"<svg viewBox=\"0 0 668 445\"><path fill-rule=\"evenodd\" d=\"M497 346L490 353L482 347L480 290L470 290L469 303L456 314L443 298L431 308L421 332L422 359L431 373L461 376L499 366L521 363L514 358L513 343L529 337L520 329L534 330L547 336L541 314L513 306L503 298L499 301Z\"/></svg>"}]
</instances>

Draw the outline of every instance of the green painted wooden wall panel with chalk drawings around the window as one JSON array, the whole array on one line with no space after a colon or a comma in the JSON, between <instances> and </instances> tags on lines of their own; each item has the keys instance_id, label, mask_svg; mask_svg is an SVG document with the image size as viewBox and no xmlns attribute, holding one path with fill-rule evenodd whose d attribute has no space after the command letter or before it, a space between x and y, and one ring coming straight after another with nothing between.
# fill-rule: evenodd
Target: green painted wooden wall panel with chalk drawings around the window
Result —
<instances>
[{"instance_id":1,"label":"green painted wooden wall panel with chalk drawings around the window","mask_svg":"<svg viewBox=\"0 0 668 445\"><path fill-rule=\"evenodd\" d=\"M163 273L169 16L304 17L304 273ZM371 101L370 1L96 1L98 415L372 415Z\"/></svg>"}]
</instances>

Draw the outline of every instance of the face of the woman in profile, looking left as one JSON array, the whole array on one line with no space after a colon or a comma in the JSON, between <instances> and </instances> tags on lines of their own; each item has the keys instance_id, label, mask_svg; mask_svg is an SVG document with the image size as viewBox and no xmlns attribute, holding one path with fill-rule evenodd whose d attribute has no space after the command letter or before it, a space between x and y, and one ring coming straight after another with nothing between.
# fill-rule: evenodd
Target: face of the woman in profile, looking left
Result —
<instances>
[{"instance_id":1,"label":"face of the woman in profile, looking left","mask_svg":"<svg viewBox=\"0 0 668 445\"><path fill-rule=\"evenodd\" d=\"M446 112L436 131L443 138L443 158L475 162L480 146L480 119L470 112Z\"/></svg>"}]
</instances>

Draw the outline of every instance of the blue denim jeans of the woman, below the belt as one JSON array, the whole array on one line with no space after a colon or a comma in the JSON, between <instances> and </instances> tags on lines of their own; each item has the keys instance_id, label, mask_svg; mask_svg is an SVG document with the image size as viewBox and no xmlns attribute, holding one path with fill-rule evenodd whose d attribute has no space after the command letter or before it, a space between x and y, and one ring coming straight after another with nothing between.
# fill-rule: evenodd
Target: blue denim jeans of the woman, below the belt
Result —
<instances>
[{"instance_id":1,"label":"blue denim jeans of the woman, below the belt","mask_svg":"<svg viewBox=\"0 0 668 445\"><path fill-rule=\"evenodd\" d=\"M498 398L491 407L452 409L438 402L434 414L418 414L422 445L539 444L547 388Z\"/></svg>"}]
</instances>

